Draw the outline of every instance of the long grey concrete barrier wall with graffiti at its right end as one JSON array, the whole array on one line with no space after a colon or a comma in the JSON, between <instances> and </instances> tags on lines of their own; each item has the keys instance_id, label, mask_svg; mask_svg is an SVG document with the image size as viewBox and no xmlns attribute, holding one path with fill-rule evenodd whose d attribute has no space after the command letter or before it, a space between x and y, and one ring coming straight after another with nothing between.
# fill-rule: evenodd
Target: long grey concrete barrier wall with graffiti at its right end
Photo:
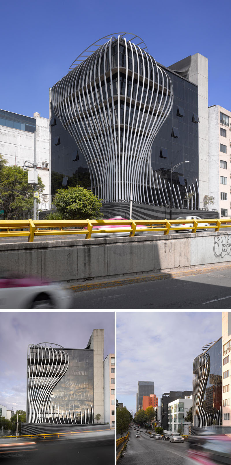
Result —
<instances>
[{"instance_id":1,"label":"long grey concrete barrier wall with graffiti at its right end","mask_svg":"<svg viewBox=\"0 0 231 465\"><path fill-rule=\"evenodd\" d=\"M0 244L0 272L74 283L231 262L231 233Z\"/></svg>"}]
</instances>

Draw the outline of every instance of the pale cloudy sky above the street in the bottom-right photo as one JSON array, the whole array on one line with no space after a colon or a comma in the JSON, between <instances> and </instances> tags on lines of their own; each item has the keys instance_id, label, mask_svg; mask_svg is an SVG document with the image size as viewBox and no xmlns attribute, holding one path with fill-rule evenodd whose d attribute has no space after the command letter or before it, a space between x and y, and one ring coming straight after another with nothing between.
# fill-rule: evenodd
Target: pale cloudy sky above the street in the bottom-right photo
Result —
<instances>
[{"instance_id":1,"label":"pale cloudy sky above the street in the bottom-right photo","mask_svg":"<svg viewBox=\"0 0 231 465\"><path fill-rule=\"evenodd\" d=\"M135 412L137 381L155 395L190 391L193 360L222 336L222 312L117 312L116 398Z\"/></svg>"}]
</instances>

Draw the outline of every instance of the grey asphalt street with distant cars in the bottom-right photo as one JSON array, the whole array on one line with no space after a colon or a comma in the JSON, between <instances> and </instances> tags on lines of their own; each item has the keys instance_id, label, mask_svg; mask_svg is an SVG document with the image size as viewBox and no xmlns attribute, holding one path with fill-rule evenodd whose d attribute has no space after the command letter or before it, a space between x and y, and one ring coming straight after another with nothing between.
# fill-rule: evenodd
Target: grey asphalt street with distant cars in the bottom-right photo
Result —
<instances>
[{"instance_id":1,"label":"grey asphalt street with distant cars in the bottom-right photo","mask_svg":"<svg viewBox=\"0 0 231 465\"><path fill-rule=\"evenodd\" d=\"M186 443L151 439L145 432L141 433L141 438L136 438L135 431L130 430L130 438L120 465L185 465L186 450Z\"/></svg>"}]
</instances>

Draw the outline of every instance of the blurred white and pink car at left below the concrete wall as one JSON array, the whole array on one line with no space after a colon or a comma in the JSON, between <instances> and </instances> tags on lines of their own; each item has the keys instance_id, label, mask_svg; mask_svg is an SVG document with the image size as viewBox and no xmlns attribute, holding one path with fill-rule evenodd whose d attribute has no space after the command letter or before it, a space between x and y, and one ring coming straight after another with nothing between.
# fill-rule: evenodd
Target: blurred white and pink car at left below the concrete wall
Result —
<instances>
[{"instance_id":1,"label":"blurred white and pink car at left below the concrete wall","mask_svg":"<svg viewBox=\"0 0 231 465\"><path fill-rule=\"evenodd\" d=\"M0 308L70 308L71 291L57 283L0 274Z\"/></svg>"}]
</instances>

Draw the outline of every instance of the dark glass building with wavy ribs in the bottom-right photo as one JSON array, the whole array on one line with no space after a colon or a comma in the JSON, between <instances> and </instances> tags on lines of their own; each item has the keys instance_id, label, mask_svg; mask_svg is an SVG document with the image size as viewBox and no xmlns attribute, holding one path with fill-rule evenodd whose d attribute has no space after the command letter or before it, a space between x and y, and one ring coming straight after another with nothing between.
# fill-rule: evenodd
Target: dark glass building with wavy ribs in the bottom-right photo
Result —
<instances>
[{"instance_id":1,"label":"dark glass building with wavy ribs in the bottom-right photo","mask_svg":"<svg viewBox=\"0 0 231 465\"><path fill-rule=\"evenodd\" d=\"M205 345L193 361L193 426L221 424L222 338Z\"/></svg>"}]
</instances>

